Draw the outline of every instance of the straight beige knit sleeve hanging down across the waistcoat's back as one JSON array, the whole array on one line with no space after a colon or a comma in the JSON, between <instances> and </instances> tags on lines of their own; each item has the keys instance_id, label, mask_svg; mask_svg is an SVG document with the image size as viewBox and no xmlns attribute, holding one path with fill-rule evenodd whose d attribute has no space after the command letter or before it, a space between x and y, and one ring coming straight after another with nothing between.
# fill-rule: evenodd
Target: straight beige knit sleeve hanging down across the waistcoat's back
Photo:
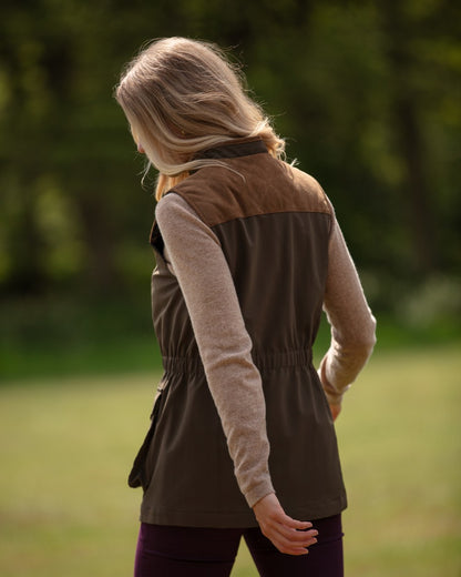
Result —
<instances>
[{"instance_id":1,"label":"straight beige knit sleeve hanging down across the waistcoat's back","mask_svg":"<svg viewBox=\"0 0 461 577\"><path fill-rule=\"evenodd\" d=\"M274 493L266 405L230 271L213 231L177 194L157 204L165 259L191 316L237 483L248 505Z\"/></svg>"}]
</instances>

